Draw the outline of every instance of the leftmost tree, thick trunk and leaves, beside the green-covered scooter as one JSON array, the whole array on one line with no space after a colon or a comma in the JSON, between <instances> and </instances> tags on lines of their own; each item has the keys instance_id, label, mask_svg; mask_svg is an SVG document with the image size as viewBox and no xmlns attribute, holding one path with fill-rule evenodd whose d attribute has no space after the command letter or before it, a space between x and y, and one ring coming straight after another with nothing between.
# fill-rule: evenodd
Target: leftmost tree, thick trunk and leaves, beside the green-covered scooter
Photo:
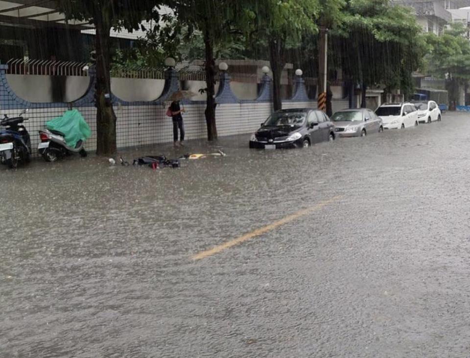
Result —
<instances>
[{"instance_id":1,"label":"leftmost tree, thick trunk and leaves, beside the green-covered scooter","mask_svg":"<svg viewBox=\"0 0 470 358\"><path fill-rule=\"evenodd\" d=\"M135 30L144 19L158 19L156 5L152 0L61 0L58 9L70 21L90 21L96 29L96 153L116 152L116 114L111 103L111 46L112 28Z\"/></svg>"}]
</instances>

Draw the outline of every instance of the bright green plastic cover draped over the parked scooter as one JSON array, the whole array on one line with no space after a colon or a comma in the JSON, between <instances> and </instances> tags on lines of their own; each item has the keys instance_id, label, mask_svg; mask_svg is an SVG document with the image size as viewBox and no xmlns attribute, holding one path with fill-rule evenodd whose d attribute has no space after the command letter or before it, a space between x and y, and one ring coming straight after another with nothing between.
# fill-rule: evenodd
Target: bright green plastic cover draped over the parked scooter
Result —
<instances>
[{"instance_id":1,"label":"bright green plastic cover draped over the parked scooter","mask_svg":"<svg viewBox=\"0 0 470 358\"><path fill-rule=\"evenodd\" d=\"M65 141L71 148L75 148L77 142L90 138L92 131L78 110L66 111L62 117L57 117L46 122L49 131L57 131L65 134Z\"/></svg>"}]
</instances>

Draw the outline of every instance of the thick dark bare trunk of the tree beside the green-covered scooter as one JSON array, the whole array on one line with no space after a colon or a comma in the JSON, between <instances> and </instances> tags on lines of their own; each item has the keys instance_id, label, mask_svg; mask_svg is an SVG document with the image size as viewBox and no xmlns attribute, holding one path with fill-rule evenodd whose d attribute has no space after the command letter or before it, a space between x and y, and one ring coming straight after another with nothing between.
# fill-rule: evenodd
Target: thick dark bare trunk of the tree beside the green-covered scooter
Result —
<instances>
[{"instance_id":1,"label":"thick dark bare trunk of the tree beside the green-covered scooter","mask_svg":"<svg viewBox=\"0 0 470 358\"><path fill-rule=\"evenodd\" d=\"M110 155L117 151L116 114L111 103L111 55L109 9L97 6L95 11L96 49L96 154Z\"/></svg>"}]
</instances>

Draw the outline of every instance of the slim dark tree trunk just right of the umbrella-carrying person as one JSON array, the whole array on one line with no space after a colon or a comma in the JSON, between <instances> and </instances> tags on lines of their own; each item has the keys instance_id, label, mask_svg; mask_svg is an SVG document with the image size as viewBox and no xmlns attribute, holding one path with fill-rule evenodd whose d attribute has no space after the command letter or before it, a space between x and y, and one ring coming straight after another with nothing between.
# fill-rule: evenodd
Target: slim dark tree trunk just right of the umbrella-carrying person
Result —
<instances>
[{"instance_id":1,"label":"slim dark tree trunk just right of the umbrella-carrying person","mask_svg":"<svg viewBox=\"0 0 470 358\"><path fill-rule=\"evenodd\" d=\"M209 21L206 20L206 30L204 31L204 45L206 51L206 124L207 139L209 141L217 139L217 127L215 124L215 60L213 40L209 31Z\"/></svg>"}]
</instances>

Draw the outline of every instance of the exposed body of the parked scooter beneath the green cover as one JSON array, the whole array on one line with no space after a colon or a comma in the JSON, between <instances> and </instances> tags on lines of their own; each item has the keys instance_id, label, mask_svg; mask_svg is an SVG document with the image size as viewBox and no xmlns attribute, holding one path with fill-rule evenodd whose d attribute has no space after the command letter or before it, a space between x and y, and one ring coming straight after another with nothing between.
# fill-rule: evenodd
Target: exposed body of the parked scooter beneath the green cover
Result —
<instances>
[{"instance_id":1,"label":"exposed body of the parked scooter beneath the green cover","mask_svg":"<svg viewBox=\"0 0 470 358\"><path fill-rule=\"evenodd\" d=\"M48 129L39 131L41 143L38 145L39 154L44 160L49 162L57 161L62 157L70 156L78 153L80 157L86 157L87 151L85 150L83 140L78 140L75 147L69 147L65 141L65 134L57 131L49 131Z\"/></svg>"}]
</instances>

